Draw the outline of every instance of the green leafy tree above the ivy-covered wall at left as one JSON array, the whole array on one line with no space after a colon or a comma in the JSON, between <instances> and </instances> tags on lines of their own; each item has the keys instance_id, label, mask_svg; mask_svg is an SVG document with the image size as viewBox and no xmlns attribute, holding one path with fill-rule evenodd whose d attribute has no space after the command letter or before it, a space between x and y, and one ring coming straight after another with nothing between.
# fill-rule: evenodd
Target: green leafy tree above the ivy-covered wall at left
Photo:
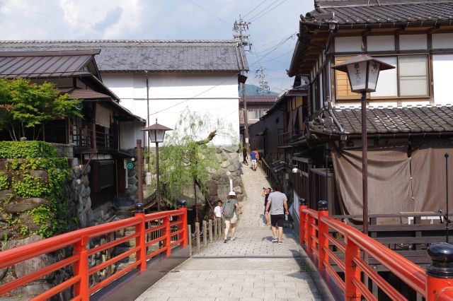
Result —
<instances>
[{"instance_id":1,"label":"green leafy tree above the ivy-covered wall at left","mask_svg":"<svg viewBox=\"0 0 453 301\"><path fill-rule=\"evenodd\" d=\"M36 85L25 78L0 78L0 129L8 129L13 140L25 136L25 128L41 127L45 122L81 116L79 100L67 100L53 83ZM35 137L38 137L38 134ZM21 136L19 136L21 135ZM35 138L31 137L31 138Z\"/></svg>"}]
</instances>

